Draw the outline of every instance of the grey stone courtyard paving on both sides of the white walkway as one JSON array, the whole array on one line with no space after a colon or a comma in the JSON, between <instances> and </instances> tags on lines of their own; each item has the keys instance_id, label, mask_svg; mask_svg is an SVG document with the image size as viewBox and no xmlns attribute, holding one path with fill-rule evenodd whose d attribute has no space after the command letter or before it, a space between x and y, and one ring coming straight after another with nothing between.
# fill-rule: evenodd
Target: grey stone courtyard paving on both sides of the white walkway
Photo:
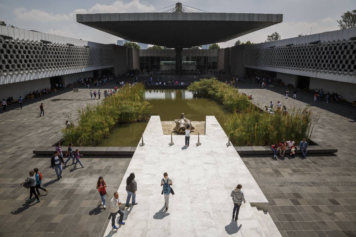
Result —
<instances>
[{"instance_id":1,"label":"grey stone courtyard paving on both sides of the white walkway","mask_svg":"<svg viewBox=\"0 0 356 237\"><path fill-rule=\"evenodd\" d=\"M225 75L230 79L232 75ZM113 82L112 82L113 83ZM242 157L269 201L269 214L282 236L356 236L356 107L350 103L313 102L313 96L298 90L297 100L283 99L287 87L261 90L246 82L240 91L252 94L255 103L280 100L310 104L321 118L313 130L315 141L337 147L336 155L309 155L306 160L272 157ZM112 88L108 85L107 88ZM290 88L290 94L293 88ZM104 88L100 88L104 90ZM48 156L33 156L37 146L52 145L68 115L90 101L90 89L57 92L24 100L23 109L8 106L0 111L0 236L103 236L109 210L98 208L94 187L102 175L108 192L117 190L131 157L83 157L83 169L68 167L56 181ZM40 103L45 116L38 117ZM319 140L316 140L319 139ZM28 190L19 183L28 171L39 168L49 193L38 204L25 204Z\"/></svg>"}]
</instances>

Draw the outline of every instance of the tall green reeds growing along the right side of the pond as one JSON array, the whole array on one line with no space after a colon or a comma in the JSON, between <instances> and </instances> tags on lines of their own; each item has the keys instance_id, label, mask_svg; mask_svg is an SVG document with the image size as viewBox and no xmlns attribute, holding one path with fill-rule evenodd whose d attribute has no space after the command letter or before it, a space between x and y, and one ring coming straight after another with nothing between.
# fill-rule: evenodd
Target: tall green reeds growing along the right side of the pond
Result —
<instances>
[{"instance_id":1,"label":"tall green reeds growing along the right side of the pond","mask_svg":"<svg viewBox=\"0 0 356 237\"><path fill-rule=\"evenodd\" d=\"M188 86L188 90L196 97L224 104L230 112L225 126L231 131L230 140L235 146L264 146L290 138L310 138L320 117L320 113L314 116L308 107L290 108L287 114L262 112L246 95L215 79L201 79Z\"/></svg>"}]
</instances>

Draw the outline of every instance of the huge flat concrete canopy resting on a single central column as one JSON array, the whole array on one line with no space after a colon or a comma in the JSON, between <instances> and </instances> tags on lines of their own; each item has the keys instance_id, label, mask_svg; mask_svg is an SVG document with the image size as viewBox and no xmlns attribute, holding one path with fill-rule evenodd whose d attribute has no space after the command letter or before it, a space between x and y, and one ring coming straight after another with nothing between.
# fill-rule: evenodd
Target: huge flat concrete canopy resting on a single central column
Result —
<instances>
[{"instance_id":1,"label":"huge flat concrete canopy resting on a single central column","mask_svg":"<svg viewBox=\"0 0 356 237\"><path fill-rule=\"evenodd\" d=\"M226 42L282 22L282 14L152 12L77 14L77 22L127 39L167 48Z\"/></svg>"}]
</instances>

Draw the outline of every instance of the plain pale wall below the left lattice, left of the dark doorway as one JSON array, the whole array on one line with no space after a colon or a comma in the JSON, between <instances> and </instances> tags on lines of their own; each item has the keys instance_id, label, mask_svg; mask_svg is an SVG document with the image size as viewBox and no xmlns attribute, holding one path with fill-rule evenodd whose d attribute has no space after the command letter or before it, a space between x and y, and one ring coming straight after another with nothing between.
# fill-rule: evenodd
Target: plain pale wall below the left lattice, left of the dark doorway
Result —
<instances>
[{"instance_id":1,"label":"plain pale wall below the left lattice, left of the dark doorway","mask_svg":"<svg viewBox=\"0 0 356 237\"><path fill-rule=\"evenodd\" d=\"M14 97L14 99L18 99L20 96L25 98L30 91L41 91L43 88L47 87L51 88L49 77L0 85L0 99L6 100L9 96Z\"/></svg>"}]
</instances>

